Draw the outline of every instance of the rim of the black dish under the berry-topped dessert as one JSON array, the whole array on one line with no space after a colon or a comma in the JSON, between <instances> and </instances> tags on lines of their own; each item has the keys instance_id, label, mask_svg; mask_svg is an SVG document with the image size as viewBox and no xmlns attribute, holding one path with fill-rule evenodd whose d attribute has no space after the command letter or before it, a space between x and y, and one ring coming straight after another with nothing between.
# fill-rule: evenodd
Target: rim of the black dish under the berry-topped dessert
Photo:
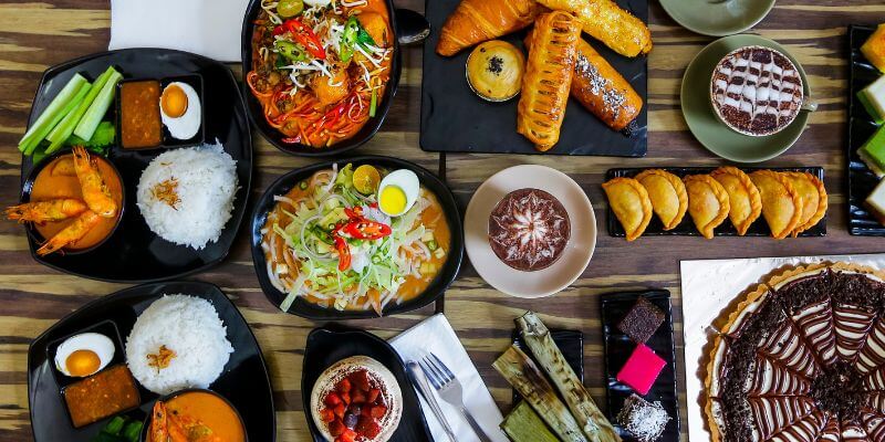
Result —
<instances>
[{"instance_id":1,"label":"rim of the black dish under the berry-topped dessert","mask_svg":"<svg viewBox=\"0 0 885 442\"><path fill-rule=\"evenodd\" d=\"M372 345L377 346L378 349L383 349L385 352L389 352L391 355L394 356L394 358L395 358L394 361L398 362L398 365L396 367L387 367L387 369L389 369L391 371L394 371L395 376L396 375L402 375L405 379L410 379L408 377L408 372L406 371L406 364L405 364L405 361L403 361L403 358L399 356L399 354L396 351L396 349L394 349L394 347L391 346L389 343L387 343L386 340L382 339L378 336L375 336L372 333L368 333L366 330L362 330L362 329L358 329L358 328L340 327L340 326L335 326L335 325L331 325L331 326L326 325L326 326L317 327L317 328L312 329L311 333L308 334L306 344L304 346L304 355L308 355L308 348L310 347L310 344L312 341L316 340L317 339L316 336L319 336L319 335L340 336L342 338L346 338L347 336L352 336L352 335L362 336L362 337L368 339L369 343L372 343ZM384 364L382 364L382 365L384 365ZM315 380L314 380L314 383L315 383ZM434 441L434 438L430 436L430 429L427 427L427 419L425 419L425 417L424 417L424 409L421 408L420 399L418 399L417 392L415 391L415 388L412 386L412 382L409 381L405 386L399 386L399 388L403 390L404 394L405 394L405 390L406 389L412 390L412 393L415 394L415 399L416 399L415 403L416 403L416 406L418 408L416 414L418 414L420 417L420 421L419 421L420 427L424 429L424 432L427 435L427 440L428 441ZM302 370L302 373L301 373L302 408L304 409L303 410L304 411L304 417L308 420L308 429L311 432L311 438L315 439L316 433L313 430L314 429L314 423L313 423L313 415L311 415L311 404L310 404L311 391L312 390L313 390L313 383L311 383L310 388L308 388L308 385L306 385L306 381L305 381L305 377L304 377L304 371ZM403 411L403 414L405 414L405 410ZM402 419L400 419L400 422L402 422Z\"/></svg>"}]
</instances>

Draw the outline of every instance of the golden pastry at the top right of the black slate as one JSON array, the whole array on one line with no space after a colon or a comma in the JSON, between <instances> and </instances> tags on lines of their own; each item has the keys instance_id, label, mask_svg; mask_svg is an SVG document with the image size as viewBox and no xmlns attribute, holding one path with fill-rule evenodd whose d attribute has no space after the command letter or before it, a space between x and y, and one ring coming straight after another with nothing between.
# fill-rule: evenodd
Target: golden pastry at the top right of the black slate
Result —
<instances>
[{"instance_id":1,"label":"golden pastry at the top right of the black slate","mask_svg":"<svg viewBox=\"0 0 885 442\"><path fill-rule=\"evenodd\" d=\"M652 51L652 31L612 0L538 0L539 3L577 15L584 32L624 56Z\"/></svg>"}]
</instances>

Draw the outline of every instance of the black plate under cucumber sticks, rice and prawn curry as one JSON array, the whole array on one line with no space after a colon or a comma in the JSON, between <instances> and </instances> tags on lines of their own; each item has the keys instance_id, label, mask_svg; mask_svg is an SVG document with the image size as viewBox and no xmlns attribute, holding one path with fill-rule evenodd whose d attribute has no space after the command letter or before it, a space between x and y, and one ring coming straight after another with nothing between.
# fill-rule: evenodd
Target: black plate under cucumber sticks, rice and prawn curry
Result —
<instances>
[{"instance_id":1,"label":"black plate under cucumber sticks, rice and prawn curry","mask_svg":"<svg viewBox=\"0 0 885 442\"><path fill-rule=\"evenodd\" d=\"M33 259L49 267L72 275L107 282L145 283L181 277L220 263L233 245L246 214L252 180L252 139L249 117L230 70L215 60L188 52L165 49L129 49L85 55L46 70L31 107L29 125L37 119L50 101L75 73L95 78L114 65L124 78L183 76L199 74L205 91L202 108L206 114L207 143L220 141L225 151L237 161L240 188L233 201L233 213L217 242L202 250L176 245L148 229L135 206L138 179L152 159L167 149L124 150L111 148L107 159L114 164L126 189L126 208L116 231L100 248L90 253L51 254L38 256L40 244L29 239ZM111 113L114 113L112 106ZM22 157L22 185L34 164Z\"/></svg>"}]
</instances>

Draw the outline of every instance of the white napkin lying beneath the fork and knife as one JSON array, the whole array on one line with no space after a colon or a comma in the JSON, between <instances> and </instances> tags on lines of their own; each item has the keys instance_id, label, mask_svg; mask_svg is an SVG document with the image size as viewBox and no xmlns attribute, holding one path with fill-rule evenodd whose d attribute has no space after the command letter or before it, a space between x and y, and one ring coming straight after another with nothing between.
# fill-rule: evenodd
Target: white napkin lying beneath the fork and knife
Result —
<instances>
[{"instance_id":1,"label":"white napkin lying beneath the fork and knife","mask_svg":"<svg viewBox=\"0 0 885 442\"><path fill-rule=\"evenodd\" d=\"M464 403L473 414L479 425L486 430L486 434L496 442L508 441L507 435L498 427L503 420L501 411L494 404L488 388L482 382L482 378L479 377L477 368L460 340L458 340L458 336L455 335L455 330L445 315L440 313L430 316L391 339L391 345L399 352L404 362L420 360L428 352L436 355L461 381ZM433 386L430 386L430 389L433 389ZM446 415L449 425L455 431L458 442L478 441L479 438L470 429L461 413L458 412L458 409L444 401L436 391L434 391L434 396L442 410L442 414ZM420 398L420 393L418 393L418 397ZM430 428L430 434L434 435L437 442L448 442L449 439L446 435L446 431L437 421L436 415L430 410L430 406L424 401L424 398L420 400L424 417Z\"/></svg>"}]
</instances>

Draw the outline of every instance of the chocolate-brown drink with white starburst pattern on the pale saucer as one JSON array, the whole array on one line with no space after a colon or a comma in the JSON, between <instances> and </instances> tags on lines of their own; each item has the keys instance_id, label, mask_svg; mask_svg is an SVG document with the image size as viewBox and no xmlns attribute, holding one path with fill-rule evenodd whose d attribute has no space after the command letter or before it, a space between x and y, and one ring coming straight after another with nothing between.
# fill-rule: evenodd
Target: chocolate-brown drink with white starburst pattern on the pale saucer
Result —
<instances>
[{"instance_id":1,"label":"chocolate-brown drink with white starburst pattern on the pale saucer","mask_svg":"<svg viewBox=\"0 0 885 442\"><path fill-rule=\"evenodd\" d=\"M504 264L523 272L551 266L571 236L569 213L539 189L508 193L489 217L489 243Z\"/></svg>"}]
</instances>

